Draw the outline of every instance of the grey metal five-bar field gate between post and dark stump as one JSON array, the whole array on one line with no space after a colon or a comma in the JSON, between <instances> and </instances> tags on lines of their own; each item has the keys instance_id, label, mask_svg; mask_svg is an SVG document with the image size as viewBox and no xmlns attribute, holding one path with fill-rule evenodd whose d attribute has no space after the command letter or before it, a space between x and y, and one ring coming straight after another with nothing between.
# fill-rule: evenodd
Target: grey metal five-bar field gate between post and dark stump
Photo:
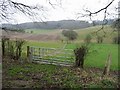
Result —
<instances>
[{"instance_id":1,"label":"grey metal five-bar field gate between post and dark stump","mask_svg":"<svg viewBox=\"0 0 120 90\"><path fill-rule=\"evenodd\" d=\"M48 64L72 65L75 61L74 52L71 49L27 46L27 56L30 61Z\"/></svg>"}]
</instances>

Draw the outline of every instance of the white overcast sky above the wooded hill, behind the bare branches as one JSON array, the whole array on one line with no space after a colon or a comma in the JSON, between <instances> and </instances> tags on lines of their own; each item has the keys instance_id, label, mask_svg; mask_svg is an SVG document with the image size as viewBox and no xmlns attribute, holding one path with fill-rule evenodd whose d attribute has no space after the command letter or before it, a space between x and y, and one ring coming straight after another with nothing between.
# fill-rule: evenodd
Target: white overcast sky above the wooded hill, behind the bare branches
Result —
<instances>
[{"instance_id":1,"label":"white overcast sky above the wooded hill, behind the bare branches","mask_svg":"<svg viewBox=\"0 0 120 90\"><path fill-rule=\"evenodd\" d=\"M77 19L79 15L77 13L85 13L83 9L88 9L90 11L97 11L102 7L105 7L111 0L51 0L51 3L57 4L54 8L49 4L49 0L13 0L21 2L27 5L41 5L45 7L46 12L39 14L44 21L58 21L58 20L69 20ZM56 2L57 1L57 2ZM60 6L61 5L61 6ZM115 7L118 6L118 0L108 8L109 13L115 13ZM41 12L40 12L41 13ZM45 18L44 18L45 16ZM103 12L93 17L94 20L102 20ZM32 20L21 13L16 13L14 16L17 23L31 22ZM38 17L38 18L39 18ZM113 15L108 16L108 18L114 18ZM89 20L89 18L80 17L79 20ZM13 21L16 22L16 21ZM35 19L39 21L39 19Z\"/></svg>"}]
</instances>

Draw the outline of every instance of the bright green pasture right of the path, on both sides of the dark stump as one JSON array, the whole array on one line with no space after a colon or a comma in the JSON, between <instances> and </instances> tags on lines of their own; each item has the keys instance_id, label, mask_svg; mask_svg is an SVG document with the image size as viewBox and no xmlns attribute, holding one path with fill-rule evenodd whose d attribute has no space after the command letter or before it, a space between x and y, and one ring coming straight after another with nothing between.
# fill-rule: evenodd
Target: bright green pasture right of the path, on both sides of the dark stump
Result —
<instances>
[{"instance_id":1,"label":"bright green pasture right of the path, on both sides of the dark stump","mask_svg":"<svg viewBox=\"0 0 120 90\"><path fill-rule=\"evenodd\" d=\"M68 44L67 49L74 49L78 45ZM105 62L108 58L109 53L111 53L111 69L118 69L118 45L116 44L91 44L89 46L89 53L85 58L86 67L98 67L103 68Z\"/></svg>"}]
</instances>

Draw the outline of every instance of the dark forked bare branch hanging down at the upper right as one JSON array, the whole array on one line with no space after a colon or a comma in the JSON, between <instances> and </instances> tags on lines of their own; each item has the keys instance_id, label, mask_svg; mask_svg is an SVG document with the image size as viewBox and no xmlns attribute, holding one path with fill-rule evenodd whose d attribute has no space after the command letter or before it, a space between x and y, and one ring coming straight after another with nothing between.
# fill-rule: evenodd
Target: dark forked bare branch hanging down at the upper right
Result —
<instances>
[{"instance_id":1,"label":"dark forked bare branch hanging down at the upper right","mask_svg":"<svg viewBox=\"0 0 120 90\"><path fill-rule=\"evenodd\" d=\"M77 19L80 18L80 17L89 17L90 20L93 22L93 25L94 25L95 22L92 20L92 17L94 17L94 15L99 14L100 12L104 12L104 18L103 18L103 23L101 24L101 28L98 29L98 30L97 30L96 32L94 32L94 33L96 33L96 35L98 36L98 32L99 32L99 31L103 31L103 32L104 32L104 35L103 35L103 36L105 36L105 35L106 35L106 32L104 31L104 26L108 23L108 21L107 21L107 15L111 15L111 14L108 12L108 8L113 4L113 2L115 2L115 0L111 0L105 7L101 7L99 10L96 10L96 11L94 11L94 12L90 11L89 9L83 9L86 14L84 14L84 13L78 13L78 14L77 14L77 15L78 15ZM120 2L119 2L119 3L120 3ZM119 6L119 3L118 3L118 6ZM119 8L120 8L120 7L118 7L118 6L115 7L116 11L118 11ZM119 12L118 12L118 14L115 14L115 13L113 13L113 14L117 16L117 15L119 15Z\"/></svg>"}]
</instances>

